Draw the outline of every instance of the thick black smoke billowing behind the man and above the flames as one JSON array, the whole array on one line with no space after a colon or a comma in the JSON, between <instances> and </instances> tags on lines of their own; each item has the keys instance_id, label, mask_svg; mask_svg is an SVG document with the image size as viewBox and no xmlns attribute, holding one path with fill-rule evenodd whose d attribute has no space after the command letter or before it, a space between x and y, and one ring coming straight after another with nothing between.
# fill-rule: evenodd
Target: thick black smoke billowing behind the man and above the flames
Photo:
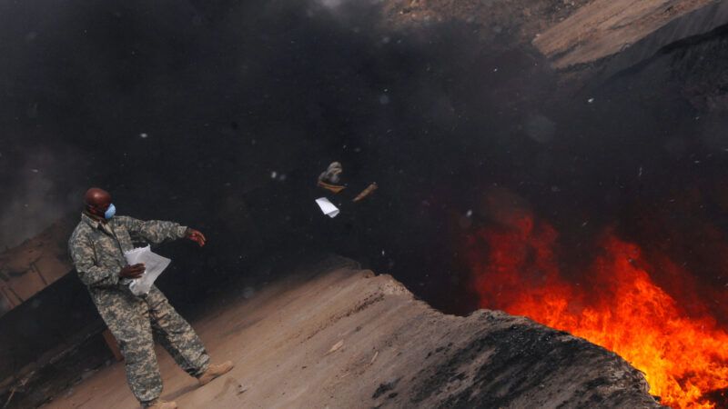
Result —
<instances>
[{"instance_id":1,"label":"thick black smoke billowing behind the man and above the flames","mask_svg":"<svg viewBox=\"0 0 728 409\"><path fill-rule=\"evenodd\" d=\"M488 189L551 220L578 264L606 225L652 243L645 213L673 217L685 186L726 173L728 145L705 136L723 123L683 97L674 53L573 85L530 45L481 41L472 23L387 18L379 2L5 2L5 244L100 185L120 214L209 235L205 250L166 250L180 300L267 257L331 251L466 312L452 237L487 222ZM334 160L380 188L328 220L314 182Z\"/></svg>"}]
</instances>

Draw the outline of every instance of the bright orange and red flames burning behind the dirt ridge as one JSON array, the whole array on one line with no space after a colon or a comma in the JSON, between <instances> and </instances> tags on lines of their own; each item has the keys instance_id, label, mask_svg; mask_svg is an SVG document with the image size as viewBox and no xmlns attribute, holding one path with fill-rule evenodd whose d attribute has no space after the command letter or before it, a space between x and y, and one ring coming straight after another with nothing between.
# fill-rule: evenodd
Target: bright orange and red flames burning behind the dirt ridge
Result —
<instances>
[{"instance_id":1,"label":"bright orange and red flames burning behind the dirt ridge","mask_svg":"<svg viewBox=\"0 0 728 409\"><path fill-rule=\"evenodd\" d=\"M606 232L602 252L575 279L559 268L557 236L530 214L468 236L481 307L529 316L620 354L662 404L716 407L706 395L728 387L728 333L655 284L658 271L637 245Z\"/></svg>"}]
</instances>

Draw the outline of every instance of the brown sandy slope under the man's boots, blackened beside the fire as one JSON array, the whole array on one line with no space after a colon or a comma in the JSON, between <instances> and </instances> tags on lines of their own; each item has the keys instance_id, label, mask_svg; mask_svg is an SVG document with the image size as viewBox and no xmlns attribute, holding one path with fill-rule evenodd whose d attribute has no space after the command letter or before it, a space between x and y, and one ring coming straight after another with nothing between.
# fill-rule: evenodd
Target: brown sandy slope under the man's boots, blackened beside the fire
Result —
<instances>
[{"instance_id":1,"label":"brown sandy slope under the man's boots, blackened beside the fire","mask_svg":"<svg viewBox=\"0 0 728 409\"><path fill-rule=\"evenodd\" d=\"M389 275L339 264L269 284L193 323L237 367L203 388L161 349L182 408L654 407L618 356L522 317L436 312ZM133 408L122 364L47 408Z\"/></svg>"}]
</instances>

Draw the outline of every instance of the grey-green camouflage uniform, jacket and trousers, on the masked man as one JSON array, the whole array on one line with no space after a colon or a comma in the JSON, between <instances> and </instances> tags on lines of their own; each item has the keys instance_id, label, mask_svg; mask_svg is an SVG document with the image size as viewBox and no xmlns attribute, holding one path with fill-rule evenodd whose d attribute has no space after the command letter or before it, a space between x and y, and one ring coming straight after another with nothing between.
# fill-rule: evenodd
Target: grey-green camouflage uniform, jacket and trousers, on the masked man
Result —
<instances>
[{"instance_id":1,"label":"grey-green camouflage uniform, jacket and trousers, on the masked man","mask_svg":"<svg viewBox=\"0 0 728 409\"><path fill-rule=\"evenodd\" d=\"M207 370L209 356L192 327L156 286L149 294L136 296L118 273L126 266L124 252L134 248L130 234L159 244L182 238L186 232L187 227L173 222L143 222L115 216L104 224L81 214L81 222L68 241L76 272L116 337L126 361L126 380L142 404L154 401L162 393L153 334L192 376Z\"/></svg>"}]
</instances>

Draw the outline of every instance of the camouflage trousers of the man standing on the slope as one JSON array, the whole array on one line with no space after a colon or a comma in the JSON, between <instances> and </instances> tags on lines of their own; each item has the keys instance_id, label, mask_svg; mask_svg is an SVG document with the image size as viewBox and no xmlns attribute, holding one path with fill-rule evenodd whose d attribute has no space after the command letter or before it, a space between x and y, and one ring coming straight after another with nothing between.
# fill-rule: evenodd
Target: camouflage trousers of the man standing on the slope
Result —
<instances>
[{"instance_id":1,"label":"camouflage trousers of the man standing on the slope","mask_svg":"<svg viewBox=\"0 0 728 409\"><path fill-rule=\"evenodd\" d=\"M126 381L140 403L162 393L155 338L187 374L197 377L207 370L209 356L202 341L156 286L145 297L121 292L102 295L96 298L96 306L121 348Z\"/></svg>"}]
</instances>

